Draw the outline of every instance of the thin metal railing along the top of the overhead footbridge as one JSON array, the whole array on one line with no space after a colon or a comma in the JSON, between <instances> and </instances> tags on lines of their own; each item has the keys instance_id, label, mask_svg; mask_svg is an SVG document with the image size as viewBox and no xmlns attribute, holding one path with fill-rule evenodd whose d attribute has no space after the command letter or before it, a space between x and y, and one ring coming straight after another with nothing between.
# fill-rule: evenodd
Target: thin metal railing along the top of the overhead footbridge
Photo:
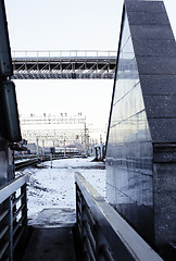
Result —
<instances>
[{"instance_id":1,"label":"thin metal railing along the top of the overhead footbridge","mask_svg":"<svg viewBox=\"0 0 176 261\"><path fill-rule=\"evenodd\" d=\"M116 51L112 50L41 50L41 51L12 51L12 59L15 58L116 58Z\"/></svg>"}]
</instances>

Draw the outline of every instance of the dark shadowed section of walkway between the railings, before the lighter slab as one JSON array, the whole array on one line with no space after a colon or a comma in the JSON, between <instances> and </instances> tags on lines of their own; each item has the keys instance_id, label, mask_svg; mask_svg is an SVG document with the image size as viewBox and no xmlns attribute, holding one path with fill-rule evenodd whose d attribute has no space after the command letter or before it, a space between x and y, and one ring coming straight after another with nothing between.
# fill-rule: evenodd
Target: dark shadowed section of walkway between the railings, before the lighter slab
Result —
<instances>
[{"instance_id":1,"label":"dark shadowed section of walkway between the railings, before the lighter slab","mask_svg":"<svg viewBox=\"0 0 176 261\"><path fill-rule=\"evenodd\" d=\"M34 228L23 261L75 261L72 227Z\"/></svg>"}]
</instances>

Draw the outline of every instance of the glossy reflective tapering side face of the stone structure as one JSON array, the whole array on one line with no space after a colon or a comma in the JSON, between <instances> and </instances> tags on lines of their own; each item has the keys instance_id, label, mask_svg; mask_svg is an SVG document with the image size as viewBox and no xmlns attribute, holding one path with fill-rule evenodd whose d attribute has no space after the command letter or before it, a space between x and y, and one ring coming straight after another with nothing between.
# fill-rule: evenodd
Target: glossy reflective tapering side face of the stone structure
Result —
<instances>
[{"instance_id":1,"label":"glossy reflective tapering side face of the stone structure","mask_svg":"<svg viewBox=\"0 0 176 261\"><path fill-rule=\"evenodd\" d=\"M126 15L112 102L106 198L139 234L152 240L153 149Z\"/></svg>"}]
</instances>

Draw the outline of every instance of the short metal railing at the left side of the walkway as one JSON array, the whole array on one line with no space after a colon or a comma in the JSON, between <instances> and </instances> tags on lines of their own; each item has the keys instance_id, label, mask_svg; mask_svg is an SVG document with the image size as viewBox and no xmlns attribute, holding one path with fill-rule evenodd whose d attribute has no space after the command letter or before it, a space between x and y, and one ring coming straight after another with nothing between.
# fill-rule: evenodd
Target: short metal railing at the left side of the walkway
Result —
<instances>
[{"instance_id":1,"label":"short metal railing at the left side of the walkway","mask_svg":"<svg viewBox=\"0 0 176 261\"><path fill-rule=\"evenodd\" d=\"M0 188L0 260L13 261L13 253L27 228L27 175Z\"/></svg>"}]
</instances>

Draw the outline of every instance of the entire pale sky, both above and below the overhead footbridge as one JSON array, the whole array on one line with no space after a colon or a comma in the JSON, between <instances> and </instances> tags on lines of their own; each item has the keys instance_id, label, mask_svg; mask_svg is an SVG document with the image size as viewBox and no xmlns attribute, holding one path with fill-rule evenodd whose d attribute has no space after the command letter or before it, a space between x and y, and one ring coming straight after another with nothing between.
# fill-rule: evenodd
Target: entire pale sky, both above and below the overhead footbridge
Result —
<instances>
[{"instance_id":1,"label":"entire pale sky, both above and below the overhead footbridge","mask_svg":"<svg viewBox=\"0 0 176 261\"><path fill-rule=\"evenodd\" d=\"M117 50L123 0L4 2L12 51ZM176 32L176 1L164 2ZM22 115L81 112L88 125L106 128L113 80L15 80L15 86Z\"/></svg>"}]
</instances>

